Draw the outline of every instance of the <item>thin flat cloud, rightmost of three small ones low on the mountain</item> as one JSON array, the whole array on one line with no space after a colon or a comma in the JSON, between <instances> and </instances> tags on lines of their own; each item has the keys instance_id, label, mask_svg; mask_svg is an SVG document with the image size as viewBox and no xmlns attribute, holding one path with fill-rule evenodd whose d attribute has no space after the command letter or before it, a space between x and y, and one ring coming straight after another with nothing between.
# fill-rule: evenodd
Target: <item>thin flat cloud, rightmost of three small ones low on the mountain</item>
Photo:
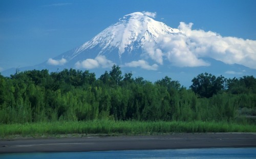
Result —
<instances>
[{"instance_id":1,"label":"thin flat cloud, rightmost of three small ones low on the mountain","mask_svg":"<svg viewBox=\"0 0 256 159\"><path fill-rule=\"evenodd\" d=\"M138 60L138 61L132 61L130 63L125 63L124 66L127 66L127 67L141 67L142 69L146 69L146 70L157 70L158 69L157 64L149 65L144 60Z\"/></svg>"}]
</instances>

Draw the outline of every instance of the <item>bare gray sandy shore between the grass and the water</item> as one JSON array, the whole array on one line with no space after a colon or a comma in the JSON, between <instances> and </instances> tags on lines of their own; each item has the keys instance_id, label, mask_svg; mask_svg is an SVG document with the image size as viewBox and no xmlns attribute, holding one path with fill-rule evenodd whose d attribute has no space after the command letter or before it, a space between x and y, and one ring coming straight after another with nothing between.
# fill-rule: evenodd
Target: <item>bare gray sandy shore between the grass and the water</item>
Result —
<instances>
[{"instance_id":1,"label":"bare gray sandy shore between the grass and the water","mask_svg":"<svg viewBox=\"0 0 256 159\"><path fill-rule=\"evenodd\" d=\"M172 134L0 140L0 153L256 147L256 134Z\"/></svg>"}]
</instances>

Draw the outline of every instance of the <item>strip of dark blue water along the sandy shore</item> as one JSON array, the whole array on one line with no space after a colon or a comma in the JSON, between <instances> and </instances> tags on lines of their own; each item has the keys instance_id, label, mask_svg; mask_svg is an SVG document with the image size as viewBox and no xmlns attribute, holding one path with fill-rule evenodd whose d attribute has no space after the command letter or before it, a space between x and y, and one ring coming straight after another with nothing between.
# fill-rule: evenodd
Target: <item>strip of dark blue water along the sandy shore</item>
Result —
<instances>
[{"instance_id":1,"label":"strip of dark blue water along the sandy shore","mask_svg":"<svg viewBox=\"0 0 256 159\"><path fill-rule=\"evenodd\" d=\"M0 154L0 158L256 158L256 148L12 153Z\"/></svg>"}]
</instances>

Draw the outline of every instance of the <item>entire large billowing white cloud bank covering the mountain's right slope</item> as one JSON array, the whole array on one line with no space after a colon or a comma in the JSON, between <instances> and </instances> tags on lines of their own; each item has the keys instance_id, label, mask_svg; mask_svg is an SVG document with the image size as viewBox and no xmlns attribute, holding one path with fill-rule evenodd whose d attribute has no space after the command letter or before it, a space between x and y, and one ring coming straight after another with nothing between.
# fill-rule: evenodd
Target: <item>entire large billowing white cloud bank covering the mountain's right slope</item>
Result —
<instances>
[{"instance_id":1,"label":"entire large billowing white cloud bank covering the mountain's right slope","mask_svg":"<svg viewBox=\"0 0 256 159\"><path fill-rule=\"evenodd\" d=\"M209 66L203 58L213 58L256 69L256 41L192 30L192 26L193 23L180 22L181 33L161 35L156 43L145 44L144 56L160 65L167 60L178 67Z\"/></svg>"}]
</instances>

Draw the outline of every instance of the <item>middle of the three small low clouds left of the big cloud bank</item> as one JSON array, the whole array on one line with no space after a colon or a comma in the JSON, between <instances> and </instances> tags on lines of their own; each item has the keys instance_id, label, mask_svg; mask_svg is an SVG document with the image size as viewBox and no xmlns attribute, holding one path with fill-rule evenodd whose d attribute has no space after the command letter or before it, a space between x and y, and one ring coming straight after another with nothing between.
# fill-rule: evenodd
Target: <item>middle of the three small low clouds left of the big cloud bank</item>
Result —
<instances>
[{"instance_id":1,"label":"middle of the three small low clouds left of the big cloud bank","mask_svg":"<svg viewBox=\"0 0 256 159\"><path fill-rule=\"evenodd\" d=\"M86 69L93 69L93 68L110 68L114 65L112 61L106 59L105 56L97 56L95 59L86 59L83 61L78 61L75 63L76 68L86 68Z\"/></svg>"}]
</instances>

